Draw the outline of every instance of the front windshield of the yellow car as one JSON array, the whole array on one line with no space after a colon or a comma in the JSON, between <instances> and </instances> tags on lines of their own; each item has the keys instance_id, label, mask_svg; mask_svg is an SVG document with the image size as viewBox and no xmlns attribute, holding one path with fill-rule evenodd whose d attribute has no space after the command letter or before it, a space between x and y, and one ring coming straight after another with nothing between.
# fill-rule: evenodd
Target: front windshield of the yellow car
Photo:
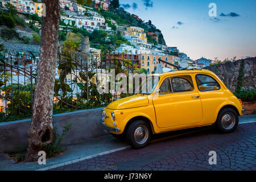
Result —
<instances>
[{"instance_id":1,"label":"front windshield of the yellow car","mask_svg":"<svg viewBox=\"0 0 256 182\"><path fill-rule=\"evenodd\" d=\"M159 82L159 76L140 77L139 88L138 88L137 86L138 81L135 78L135 93L151 94L154 91L158 82Z\"/></svg>"}]
</instances>

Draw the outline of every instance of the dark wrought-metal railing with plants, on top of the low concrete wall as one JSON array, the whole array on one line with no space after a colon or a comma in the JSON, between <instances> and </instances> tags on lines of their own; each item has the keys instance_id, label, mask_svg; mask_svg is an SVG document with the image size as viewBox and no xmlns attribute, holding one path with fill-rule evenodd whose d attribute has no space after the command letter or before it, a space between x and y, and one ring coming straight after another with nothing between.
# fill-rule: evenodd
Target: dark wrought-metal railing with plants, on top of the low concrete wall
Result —
<instances>
[{"instance_id":1,"label":"dark wrought-metal railing with plants, on top of the low concrete wall","mask_svg":"<svg viewBox=\"0 0 256 182\"><path fill-rule=\"evenodd\" d=\"M123 59L122 53L81 52L57 54L56 79L54 88L53 109L56 113L63 110L85 109L105 106L110 102L130 96L123 93L99 93L100 82L108 81L110 69L115 73L128 76L134 72L134 61ZM31 64L32 61L32 64ZM28 64L29 63L29 64ZM5 56L0 62L0 114L7 117L29 117L35 93L36 75L35 60Z\"/></svg>"}]
</instances>

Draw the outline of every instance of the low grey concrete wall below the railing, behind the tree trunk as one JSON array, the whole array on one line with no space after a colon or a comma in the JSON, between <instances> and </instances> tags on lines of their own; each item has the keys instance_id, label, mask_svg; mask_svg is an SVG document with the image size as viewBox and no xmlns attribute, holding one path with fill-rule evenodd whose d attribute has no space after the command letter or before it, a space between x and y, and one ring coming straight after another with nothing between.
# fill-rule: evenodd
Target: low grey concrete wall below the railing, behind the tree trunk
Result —
<instances>
[{"instance_id":1,"label":"low grey concrete wall below the railing, behind the tree trunk","mask_svg":"<svg viewBox=\"0 0 256 182\"><path fill-rule=\"evenodd\" d=\"M88 109L54 115L57 133L62 134L63 127L72 123L71 129L62 144L81 142L106 135L101 127L101 109ZM31 119L0 123L0 152L12 151L15 147L27 144L27 131Z\"/></svg>"}]
</instances>

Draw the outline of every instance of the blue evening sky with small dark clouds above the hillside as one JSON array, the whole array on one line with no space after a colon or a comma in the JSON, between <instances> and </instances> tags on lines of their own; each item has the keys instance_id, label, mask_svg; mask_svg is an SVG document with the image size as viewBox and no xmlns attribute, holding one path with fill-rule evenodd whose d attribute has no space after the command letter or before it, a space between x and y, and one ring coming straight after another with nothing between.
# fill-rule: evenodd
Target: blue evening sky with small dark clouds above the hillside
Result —
<instances>
[{"instance_id":1,"label":"blue evening sky with small dark clouds above the hillside","mask_svg":"<svg viewBox=\"0 0 256 182\"><path fill-rule=\"evenodd\" d=\"M255 0L119 0L131 14L152 21L168 47L193 59L256 56ZM209 16L210 3L217 16Z\"/></svg>"}]
</instances>

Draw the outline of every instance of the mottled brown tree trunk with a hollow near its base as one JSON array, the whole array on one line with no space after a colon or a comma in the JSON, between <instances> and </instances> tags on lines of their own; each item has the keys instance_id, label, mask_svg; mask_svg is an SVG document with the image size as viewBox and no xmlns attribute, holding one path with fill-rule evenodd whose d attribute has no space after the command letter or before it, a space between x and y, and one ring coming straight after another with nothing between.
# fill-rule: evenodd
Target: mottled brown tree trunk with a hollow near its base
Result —
<instances>
[{"instance_id":1,"label":"mottled brown tree trunk with a hollow near its base","mask_svg":"<svg viewBox=\"0 0 256 182\"><path fill-rule=\"evenodd\" d=\"M38 152L43 144L52 143L55 135L53 127L53 88L59 39L60 6L58 0L43 0L46 16L42 21L42 39L38 76L33 103L33 113L28 130L26 161L38 160Z\"/></svg>"}]
</instances>

